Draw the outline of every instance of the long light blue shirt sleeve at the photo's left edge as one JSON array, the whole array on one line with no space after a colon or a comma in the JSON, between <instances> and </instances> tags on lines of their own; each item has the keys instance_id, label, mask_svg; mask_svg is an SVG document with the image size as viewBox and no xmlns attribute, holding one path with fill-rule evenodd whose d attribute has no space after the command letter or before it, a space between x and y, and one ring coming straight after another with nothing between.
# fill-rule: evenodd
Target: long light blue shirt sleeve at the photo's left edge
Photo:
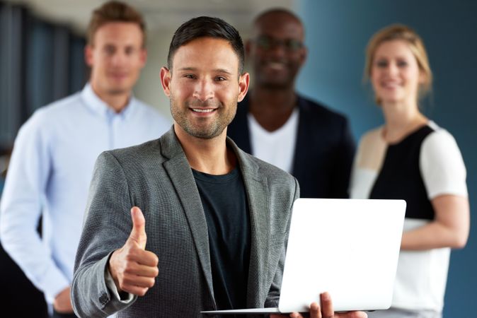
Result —
<instances>
[{"instance_id":1,"label":"long light blue shirt sleeve at the photo's left edge","mask_svg":"<svg viewBox=\"0 0 477 318\"><path fill-rule=\"evenodd\" d=\"M0 236L10 257L45 293L47 302L53 302L69 281L36 230L52 170L52 145L43 119L33 114L16 137L1 197Z\"/></svg>"}]
</instances>

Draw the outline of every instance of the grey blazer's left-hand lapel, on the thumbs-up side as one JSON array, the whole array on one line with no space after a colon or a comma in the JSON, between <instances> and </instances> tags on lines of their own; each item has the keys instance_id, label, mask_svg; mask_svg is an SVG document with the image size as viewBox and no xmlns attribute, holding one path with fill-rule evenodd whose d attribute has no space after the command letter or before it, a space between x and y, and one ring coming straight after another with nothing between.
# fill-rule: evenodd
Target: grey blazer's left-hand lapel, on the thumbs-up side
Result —
<instances>
[{"instance_id":1,"label":"grey blazer's left-hand lapel, on the thumbs-up side","mask_svg":"<svg viewBox=\"0 0 477 318\"><path fill-rule=\"evenodd\" d=\"M184 208L209 293L214 299L207 221L202 204L200 204L200 194L192 170L173 128L161 137L161 149L163 155L169 158L163 165Z\"/></svg>"}]
</instances>

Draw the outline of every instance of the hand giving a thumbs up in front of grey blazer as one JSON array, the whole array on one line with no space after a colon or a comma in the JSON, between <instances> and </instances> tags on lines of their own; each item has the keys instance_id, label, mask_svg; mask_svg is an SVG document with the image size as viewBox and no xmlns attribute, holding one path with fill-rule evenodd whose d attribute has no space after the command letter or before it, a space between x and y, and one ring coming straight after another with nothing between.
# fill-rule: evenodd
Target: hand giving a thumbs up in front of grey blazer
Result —
<instances>
[{"instance_id":1,"label":"hand giving a thumbs up in front of grey blazer","mask_svg":"<svg viewBox=\"0 0 477 318\"><path fill-rule=\"evenodd\" d=\"M146 220L137 206L131 209L132 230L125 245L111 254L108 269L118 292L144 296L159 274L159 259L146 251Z\"/></svg>"}]
</instances>

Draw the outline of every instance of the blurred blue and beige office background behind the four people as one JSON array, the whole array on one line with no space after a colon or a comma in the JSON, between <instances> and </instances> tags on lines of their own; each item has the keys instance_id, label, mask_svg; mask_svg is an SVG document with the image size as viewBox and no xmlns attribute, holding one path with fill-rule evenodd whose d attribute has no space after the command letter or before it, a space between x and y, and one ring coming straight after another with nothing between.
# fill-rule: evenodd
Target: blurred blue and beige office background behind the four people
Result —
<instances>
[{"instance_id":1,"label":"blurred blue and beige office background behind the four people","mask_svg":"<svg viewBox=\"0 0 477 318\"><path fill-rule=\"evenodd\" d=\"M35 109L81 90L88 78L83 49L94 0L0 1L0 171L16 133ZM455 137L467 167L471 211L477 197L477 1L473 0L134 0L146 18L149 57L134 88L167 117L159 70L173 31L194 16L218 16L248 38L253 18L266 8L296 12L306 28L308 60L298 90L350 119L357 141L382 124L372 90L362 82L369 37L391 23L414 28L425 42L435 76L425 114ZM253 81L253 80L252 80ZM1 177L0 177L1 179ZM1 192L0 182L0 192ZM477 221L467 246L452 252L444 317L476 317ZM377 238L379 239L379 238ZM8 276L0 259L0 281ZM3 285L3 283L2 283ZM21 293L21 291L19 291ZM1 297L1 296L0 296Z\"/></svg>"}]
</instances>

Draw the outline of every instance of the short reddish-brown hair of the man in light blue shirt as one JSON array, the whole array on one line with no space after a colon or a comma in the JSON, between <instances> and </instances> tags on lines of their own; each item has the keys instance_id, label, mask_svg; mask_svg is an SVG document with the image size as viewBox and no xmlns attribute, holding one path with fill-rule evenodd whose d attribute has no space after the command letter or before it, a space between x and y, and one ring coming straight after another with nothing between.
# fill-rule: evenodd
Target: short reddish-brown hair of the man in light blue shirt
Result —
<instances>
[{"instance_id":1,"label":"short reddish-brown hair of the man in light blue shirt","mask_svg":"<svg viewBox=\"0 0 477 318\"><path fill-rule=\"evenodd\" d=\"M146 45L146 23L144 23L144 18L132 6L120 1L108 1L93 11L88 25L88 45L93 45L94 35L100 27L112 22L136 23L142 32L142 46Z\"/></svg>"}]
</instances>

